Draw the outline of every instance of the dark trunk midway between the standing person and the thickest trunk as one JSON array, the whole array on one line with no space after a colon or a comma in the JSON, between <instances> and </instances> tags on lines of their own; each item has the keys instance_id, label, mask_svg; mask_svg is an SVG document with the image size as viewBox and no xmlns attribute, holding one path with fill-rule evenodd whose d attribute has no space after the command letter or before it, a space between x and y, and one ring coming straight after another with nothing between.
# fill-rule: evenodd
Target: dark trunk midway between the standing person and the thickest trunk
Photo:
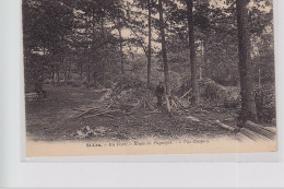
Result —
<instances>
[{"instance_id":1,"label":"dark trunk midway between the standing person and the thickest trunk","mask_svg":"<svg viewBox=\"0 0 284 189\"><path fill-rule=\"evenodd\" d=\"M187 16L188 16L188 38L190 48L190 66L191 66L191 83L192 83L192 99L193 105L200 104L199 86L198 86L198 67L196 60L196 45L193 31L193 0L187 0Z\"/></svg>"}]
</instances>

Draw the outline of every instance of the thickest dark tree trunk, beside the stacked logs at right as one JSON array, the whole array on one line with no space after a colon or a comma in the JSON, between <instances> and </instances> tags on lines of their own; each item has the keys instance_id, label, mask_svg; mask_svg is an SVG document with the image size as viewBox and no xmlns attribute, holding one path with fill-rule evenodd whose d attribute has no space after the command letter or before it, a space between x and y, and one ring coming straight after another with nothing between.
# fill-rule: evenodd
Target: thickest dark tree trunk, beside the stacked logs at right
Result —
<instances>
[{"instance_id":1,"label":"thickest dark tree trunk, beside the stacked logs at right","mask_svg":"<svg viewBox=\"0 0 284 189\"><path fill-rule=\"evenodd\" d=\"M237 25L239 39L239 74L241 110L240 121L256 121L257 110L253 94L252 66L250 60L250 39L248 31L248 0L237 0Z\"/></svg>"}]
</instances>

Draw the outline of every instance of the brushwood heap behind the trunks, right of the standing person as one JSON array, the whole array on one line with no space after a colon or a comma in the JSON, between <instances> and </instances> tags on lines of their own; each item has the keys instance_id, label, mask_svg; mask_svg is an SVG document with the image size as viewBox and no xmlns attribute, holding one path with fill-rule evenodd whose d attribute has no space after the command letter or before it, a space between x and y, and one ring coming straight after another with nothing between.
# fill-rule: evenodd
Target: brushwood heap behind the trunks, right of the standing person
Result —
<instances>
[{"instance_id":1,"label":"brushwood heap behind the trunks, right of the standing person","mask_svg":"<svg viewBox=\"0 0 284 189\"><path fill-rule=\"evenodd\" d=\"M202 102L211 106L221 106L224 108L240 109L240 94L237 86L223 86L211 79L199 81L200 95ZM275 113L275 86L264 84L255 86L256 107L259 121L271 122L276 117ZM189 92L189 93L188 93ZM181 87L177 91L179 96L191 98L191 81L184 81Z\"/></svg>"}]
</instances>

